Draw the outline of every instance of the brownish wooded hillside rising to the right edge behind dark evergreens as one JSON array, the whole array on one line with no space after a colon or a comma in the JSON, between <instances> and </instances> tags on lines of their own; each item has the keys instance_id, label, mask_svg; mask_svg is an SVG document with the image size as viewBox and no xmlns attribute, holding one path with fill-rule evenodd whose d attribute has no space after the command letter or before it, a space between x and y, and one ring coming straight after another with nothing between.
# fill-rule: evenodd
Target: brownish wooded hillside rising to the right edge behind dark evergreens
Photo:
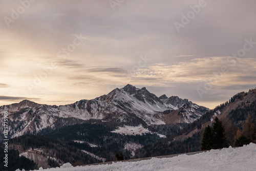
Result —
<instances>
[{"instance_id":1,"label":"brownish wooded hillside rising to the right edge behind dark evergreens","mask_svg":"<svg viewBox=\"0 0 256 171\"><path fill-rule=\"evenodd\" d=\"M159 142L144 146L139 149L136 157L183 153L184 144L190 147L190 152L200 151L203 131L207 125L212 125L215 116L218 116L222 120L228 143L234 146L237 131L239 128L241 129L248 115L256 123L256 89L234 95L229 101L206 112L202 117L188 124L177 133Z\"/></svg>"}]
</instances>

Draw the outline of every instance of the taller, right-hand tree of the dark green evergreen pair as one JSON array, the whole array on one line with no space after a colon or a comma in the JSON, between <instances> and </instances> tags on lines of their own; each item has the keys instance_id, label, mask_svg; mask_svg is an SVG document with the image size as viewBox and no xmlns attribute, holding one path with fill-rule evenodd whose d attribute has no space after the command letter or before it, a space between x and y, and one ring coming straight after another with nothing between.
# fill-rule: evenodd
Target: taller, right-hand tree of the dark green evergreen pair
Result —
<instances>
[{"instance_id":1,"label":"taller, right-hand tree of the dark green evergreen pair","mask_svg":"<svg viewBox=\"0 0 256 171\"><path fill-rule=\"evenodd\" d=\"M225 129L222 124L222 121L219 120L218 117L215 117L215 122L212 129L213 129L213 136L214 136L214 142L213 142L212 148L218 149L218 148L228 147L227 138L225 135Z\"/></svg>"}]
</instances>

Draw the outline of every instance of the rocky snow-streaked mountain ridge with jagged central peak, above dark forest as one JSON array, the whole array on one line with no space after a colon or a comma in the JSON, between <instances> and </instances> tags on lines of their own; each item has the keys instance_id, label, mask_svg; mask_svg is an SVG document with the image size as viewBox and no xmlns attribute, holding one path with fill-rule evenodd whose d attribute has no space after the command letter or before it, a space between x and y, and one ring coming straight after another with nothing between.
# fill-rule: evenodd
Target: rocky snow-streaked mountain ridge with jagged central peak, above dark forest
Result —
<instances>
[{"instance_id":1,"label":"rocky snow-streaked mountain ridge with jagged central peak, above dark forest","mask_svg":"<svg viewBox=\"0 0 256 171\"><path fill-rule=\"evenodd\" d=\"M0 113L4 111L8 111L9 135L15 137L36 133L46 127L56 128L90 119L132 125L191 123L208 109L177 96L157 97L146 88L137 89L127 84L92 100L59 106L23 100L1 106Z\"/></svg>"}]
</instances>

